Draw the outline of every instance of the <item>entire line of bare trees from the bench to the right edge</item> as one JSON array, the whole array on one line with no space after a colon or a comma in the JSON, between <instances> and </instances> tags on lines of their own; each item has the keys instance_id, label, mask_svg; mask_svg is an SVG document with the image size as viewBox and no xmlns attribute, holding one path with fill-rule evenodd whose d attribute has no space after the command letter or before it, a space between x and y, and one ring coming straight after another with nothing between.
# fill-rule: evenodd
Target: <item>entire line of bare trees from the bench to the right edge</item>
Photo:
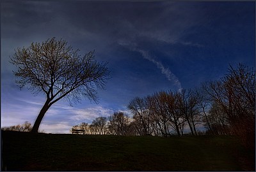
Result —
<instances>
[{"instance_id":1,"label":"entire line of bare trees from the bench to the right edge","mask_svg":"<svg viewBox=\"0 0 256 172\"><path fill-rule=\"evenodd\" d=\"M88 134L154 135L205 134L236 135L244 145L255 147L255 70L239 64L228 68L220 80L201 83L195 89L159 91L145 97L135 97L127 108L132 117L115 112L93 120Z\"/></svg>"}]
</instances>

